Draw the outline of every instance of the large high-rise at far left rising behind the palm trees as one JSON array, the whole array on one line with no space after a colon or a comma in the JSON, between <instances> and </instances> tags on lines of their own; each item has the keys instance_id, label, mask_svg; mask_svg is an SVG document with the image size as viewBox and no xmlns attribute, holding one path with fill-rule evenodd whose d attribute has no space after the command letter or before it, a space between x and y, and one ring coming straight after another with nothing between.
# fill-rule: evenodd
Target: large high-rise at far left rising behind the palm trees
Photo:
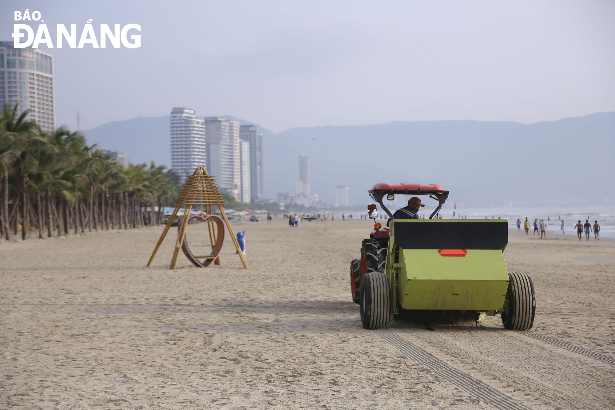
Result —
<instances>
[{"instance_id":1,"label":"large high-rise at far left rising behind the palm trees","mask_svg":"<svg viewBox=\"0 0 615 410\"><path fill-rule=\"evenodd\" d=\"M0 107L19 104L17 115L30 108L42 131L55 130L54 57L41 49L16 49L0 41Z\"/></svg>"}]
</instances>

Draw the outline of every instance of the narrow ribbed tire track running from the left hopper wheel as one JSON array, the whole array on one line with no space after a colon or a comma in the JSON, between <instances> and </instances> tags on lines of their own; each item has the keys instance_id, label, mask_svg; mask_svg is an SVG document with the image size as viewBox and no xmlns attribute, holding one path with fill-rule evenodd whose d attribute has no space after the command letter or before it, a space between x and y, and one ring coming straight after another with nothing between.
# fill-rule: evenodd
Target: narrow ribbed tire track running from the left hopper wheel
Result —
<instances>
[{"instance_id":1,"label":"narrow ribbed tire track running from the left hopper wheel","mask_svg":"<svg viewBox=\"0 0 615 410\"><path fill-rule=\"evenodd\" d=\"M529 408L523 406L517 401L513 400L509 396L502 392L485 384L482 380L474 379L456 368L453 368L444 361L438 359L431 353L423 350L422 348L411 344L407 340L398 336L395 332L388 329L381 329L376 331L378 335L387 343L397 348L404 355L408 356L416 363L423 364L427 368L434 371L438 376L444 377L446 380L452 382L457 387L465 390L475 398L484 401L493 408L499 410L528 410Z\"/></svg>"}]
</instances>

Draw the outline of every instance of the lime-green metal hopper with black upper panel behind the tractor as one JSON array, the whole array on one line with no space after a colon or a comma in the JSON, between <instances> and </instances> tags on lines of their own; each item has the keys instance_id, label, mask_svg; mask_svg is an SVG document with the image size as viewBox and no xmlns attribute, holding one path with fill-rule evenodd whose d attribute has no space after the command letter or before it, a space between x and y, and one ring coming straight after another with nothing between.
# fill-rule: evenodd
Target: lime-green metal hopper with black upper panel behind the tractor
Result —
<instances>
[{"instance_id":1,"label":"lime-green metal hopper with black upper panel behind the tractor","mask_svg":"<svg viewBox=\"0 0 615 410\"><path fill-rule=\"evenodd\" d=\"M399 223L405 222L405 223ZM423 222L423 225L414 225ZM425 225L454 224L454 225ZM477 225L476 222L480 224ZM458 249L465 251L464 256L443 256L446 250L440 249L403 249L403 241L396 241L395 224L398 231L403 227L405 242L411 238L413 243L421 243L421 238L415 238L413 227L421 226L416 235L429 235L435 231L442 236L467 235L467 228L472 227L472 235L485 230L498 231L499 241L494 246L499 249ZM464 225L473 223L472 225ZM483 225L483 223L485 225ZM504 225L486 225L486 224ZM445 228L443 230L443 228ZM422 230L422 231L421 231ZM445 232L445 235L442 232ZM503 239L505 232L506 238ZM427 234L426 234L427 233ZM400 236L400 232L397 236ZM485 235L488 235L485 233ZM443 237L442 241L430 238L430 244L467 244L468 247L490 244L489 238ZM499 311L504 306L509 276L502 252L508 240L506 220L444 220L444 219L394 219L391 221L389 247L387 249L386 275L391 281L393 312L403 310L481 310L488 314ZM502 246L503 243L503 246ZM420 246L420 245L419 245ZM419 247L415 245L416 247ZM487 245L488 246L488 245ZM454 253L454 252L453 252ZM462 253L462 252L458 252Z\"/></svg>"}]
</instances>

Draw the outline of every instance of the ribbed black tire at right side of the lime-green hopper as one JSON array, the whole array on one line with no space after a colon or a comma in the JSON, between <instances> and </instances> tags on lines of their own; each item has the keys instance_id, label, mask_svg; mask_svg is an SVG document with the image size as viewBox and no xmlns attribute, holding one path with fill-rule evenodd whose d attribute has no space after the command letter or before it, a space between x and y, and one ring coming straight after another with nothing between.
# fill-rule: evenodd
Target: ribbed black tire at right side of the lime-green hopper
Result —
<instances>
[{"instance_id":1,"label":"ribbed black tire at right side of the lime-green hopper","mask_svg":"<svg viewBox=\"0 0 615 410\"><path fill-rule=\"evenodd\" d=\"M529 330L536 314L534 284L530 276L523 272L511 272L508 277L502 323L509 330Z\"/></svg>"}]
</instances>

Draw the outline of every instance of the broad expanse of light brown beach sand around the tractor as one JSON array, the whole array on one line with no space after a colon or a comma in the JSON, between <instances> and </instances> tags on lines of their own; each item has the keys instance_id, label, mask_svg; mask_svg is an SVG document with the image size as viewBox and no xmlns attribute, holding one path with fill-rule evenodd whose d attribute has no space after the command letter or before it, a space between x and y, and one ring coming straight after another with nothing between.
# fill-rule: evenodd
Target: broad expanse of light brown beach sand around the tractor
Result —
<instances>
[{"instance_id":1,"label":"broad expanse of light brown beach sand around the tractor","mask_svg":"<svg viewBox=\"0 0 615 410\"><path fill-rule=\"evenodd\" d=\"M221 266L170 271L175 228L151 268L162 227L3 241L0 408L615 408L615 239L510 231L531 331L366 331L349 262L369 221L232 227L249 270L227 238Z\"/></svg>"}]
</instances>

